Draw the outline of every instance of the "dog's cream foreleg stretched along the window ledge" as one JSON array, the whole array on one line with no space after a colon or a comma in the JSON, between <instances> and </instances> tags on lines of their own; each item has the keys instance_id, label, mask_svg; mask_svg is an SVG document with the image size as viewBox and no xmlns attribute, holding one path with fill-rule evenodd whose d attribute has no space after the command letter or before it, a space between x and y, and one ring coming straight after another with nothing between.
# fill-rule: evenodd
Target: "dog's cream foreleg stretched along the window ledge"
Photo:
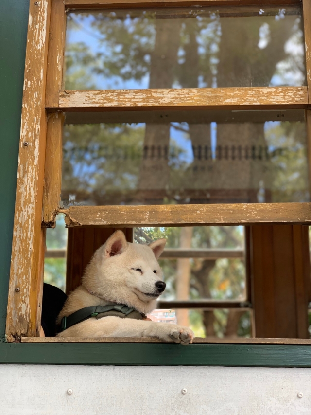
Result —
<instances>
[{"instance_id":1,"label":"dog's cream foreleg stretched along the window ledge","mask_svg":"<svg viewBox=\"0 0 311 415\"><path fill-rule=\"evenodd\" d=\"M165 342L187 345L194 334L189 327L168 323L155 323L120 317L103 317L85 320L60 333L61 337L156 337Z\"/></svg>"}]
</instances>

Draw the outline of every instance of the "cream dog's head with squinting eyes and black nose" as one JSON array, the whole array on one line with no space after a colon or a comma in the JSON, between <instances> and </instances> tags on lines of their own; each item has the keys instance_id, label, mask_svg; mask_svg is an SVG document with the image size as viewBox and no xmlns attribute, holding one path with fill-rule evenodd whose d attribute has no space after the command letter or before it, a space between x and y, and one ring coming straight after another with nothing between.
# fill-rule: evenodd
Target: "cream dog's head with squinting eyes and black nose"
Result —
<instances>
[{"instance_id":1,"label":"cream dog's head with squinting eyes and black nose","mask_svg":"<svg viewBox=\"0 0 311 415\"><path fill-rule=\"evenodd\" d=\"M157 262L165 243L164 238L150 245L129 243L116 231L94 254L83 286L107 301L150 312L166 287Z\"/></svg>"}]
</instances>

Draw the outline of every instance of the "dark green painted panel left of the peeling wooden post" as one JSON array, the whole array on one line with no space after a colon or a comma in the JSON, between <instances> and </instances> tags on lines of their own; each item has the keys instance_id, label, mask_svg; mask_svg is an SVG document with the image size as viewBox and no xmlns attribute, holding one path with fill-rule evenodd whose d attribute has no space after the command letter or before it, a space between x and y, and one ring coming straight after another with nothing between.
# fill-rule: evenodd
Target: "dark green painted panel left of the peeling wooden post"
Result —
<instances>
[{"instance_id":1,"label":"dark green painted panel left of the peeling wooden post","mask_svg":"<svg viewBox=\"0 0 311 415\"><path fill-rule=\"evenodd\" d=\"M4 341L29 0L0 7L0 342Z\"/></svg>"}]
</instances>

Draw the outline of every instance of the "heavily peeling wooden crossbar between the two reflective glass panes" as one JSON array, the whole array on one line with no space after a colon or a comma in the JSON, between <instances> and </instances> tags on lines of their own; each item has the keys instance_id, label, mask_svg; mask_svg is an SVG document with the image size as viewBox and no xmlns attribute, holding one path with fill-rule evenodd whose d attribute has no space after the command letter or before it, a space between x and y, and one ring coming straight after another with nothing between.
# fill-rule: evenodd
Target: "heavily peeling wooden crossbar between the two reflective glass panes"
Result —
<instances>
[{"instance_id":1,"label":"heavily peeling wooden crossbar between the two reflective glass panes","mask_svg":"<svg viewBox=\"0 0 311 415\"><path fill-rule=\"evenodd\" d=\"M62 90L59 108L133 110L148 108L305 108L307 87Z\"/></svg>"}]
</instances>

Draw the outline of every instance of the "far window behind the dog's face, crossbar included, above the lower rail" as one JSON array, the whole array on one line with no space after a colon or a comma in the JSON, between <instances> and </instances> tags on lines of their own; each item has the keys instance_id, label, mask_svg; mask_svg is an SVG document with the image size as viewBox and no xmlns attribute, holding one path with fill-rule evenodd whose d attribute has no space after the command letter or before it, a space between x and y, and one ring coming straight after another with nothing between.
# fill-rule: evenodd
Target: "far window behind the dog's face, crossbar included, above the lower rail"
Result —
<instances>
[{"instance_id":1,"label":"far window behind the dog's face, crossbar included, above the lower rail","mask_svg":"<svg viewBox=\"0 0 311 415\"><path fill-rule=\"evenodd\" d=\"M134 236L138 243L167 238L159 258L166 283L161 301L246 299L243 226L135 228ZM184 257L176 258L180 249ZM235 258L229 257L232 251Z\"/></svg>"}]
</instances>

